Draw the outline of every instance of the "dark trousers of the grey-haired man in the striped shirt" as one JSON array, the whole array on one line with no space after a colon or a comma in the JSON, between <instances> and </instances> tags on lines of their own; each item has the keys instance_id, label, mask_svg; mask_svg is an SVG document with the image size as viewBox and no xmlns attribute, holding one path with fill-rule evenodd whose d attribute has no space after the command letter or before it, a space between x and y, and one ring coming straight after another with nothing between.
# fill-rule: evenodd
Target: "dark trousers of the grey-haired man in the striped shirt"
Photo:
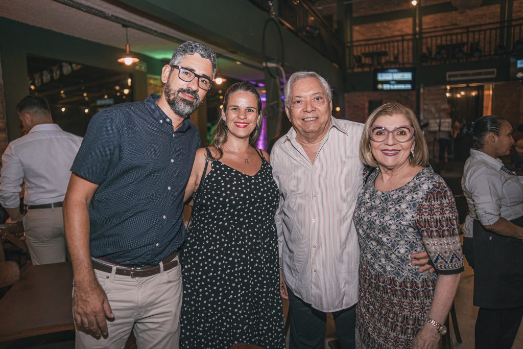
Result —
<instances>
[{"instance_id":1,"label":"dark trousers of the grey-haired man in the striped shirt","mask_svg":"<svg viewBox=\"0 0 523 349\"><path fill-rule=\"evenodd\" d=\"M323 349L327 313L312 308L309 303L295 296L290 288L290 340L289 349ZM334 324L342 349L355 347L356 305L333 312Z\"/></svg>"}]
</instances>

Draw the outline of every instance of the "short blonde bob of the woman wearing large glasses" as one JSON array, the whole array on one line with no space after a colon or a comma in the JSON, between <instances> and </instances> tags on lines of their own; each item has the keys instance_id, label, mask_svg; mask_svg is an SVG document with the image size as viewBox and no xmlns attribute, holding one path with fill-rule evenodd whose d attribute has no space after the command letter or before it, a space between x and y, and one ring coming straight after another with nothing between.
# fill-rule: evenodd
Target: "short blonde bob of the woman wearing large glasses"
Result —
<instances>
[{"instance_id":1,"label":"short blonde bob of the woman wearing large glasses","mask_svg":"<svg viewBox=\"0 0 523 349\"><path fill-rule=\"evenodd\" d=\"M369 129L374 124L374 121L376 121L380 116L395 115L406 117L410 125L414 128L414 155L409 157L411 164L425 167L428 164L427 142L425 142L425 137L423 136L422 129L419 127L416 115L414 115L414 111L412 111L411 108L395 102L382 105L374 110L367 118L360 140L361 162L369 167L378 167L378 163L376 162L376 159L374 159L370 148L371 139L369 136Z\"/></svg>"}]
</instances>

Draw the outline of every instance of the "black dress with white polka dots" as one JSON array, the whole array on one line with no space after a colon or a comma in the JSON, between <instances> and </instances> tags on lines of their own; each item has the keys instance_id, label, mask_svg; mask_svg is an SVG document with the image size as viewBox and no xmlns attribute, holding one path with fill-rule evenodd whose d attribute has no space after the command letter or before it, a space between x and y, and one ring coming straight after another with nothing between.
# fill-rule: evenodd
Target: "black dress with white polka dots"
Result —
<instances>
[{"instance_id":1,"label":"black dress with white polka dots","mask_svg":"<svg viewBox=\"0 0 523 349\"><path fill-rule=\"evenodd\" d=\"M254 176L211 164L184 245L180 345L285 348L272 167L263 156Z\"/></svg>"}]
</instances>

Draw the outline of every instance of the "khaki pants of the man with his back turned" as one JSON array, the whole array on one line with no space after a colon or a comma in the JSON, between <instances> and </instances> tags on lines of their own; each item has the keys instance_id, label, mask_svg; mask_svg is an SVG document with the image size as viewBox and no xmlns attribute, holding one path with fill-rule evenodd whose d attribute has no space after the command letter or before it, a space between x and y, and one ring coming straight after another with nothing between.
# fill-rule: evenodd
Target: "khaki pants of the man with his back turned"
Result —
<instances>
[{"instance_id":1,"label":"khaki pants of the man with his back turned","mask_svg":"<svg viewBox=\"0 0 523 349\"><path fill-rule=\"evenodd\" d=\"M61 207L27 211L24 229L33 265L65 262L67 247Z\"/></svg>"}]
</instances>

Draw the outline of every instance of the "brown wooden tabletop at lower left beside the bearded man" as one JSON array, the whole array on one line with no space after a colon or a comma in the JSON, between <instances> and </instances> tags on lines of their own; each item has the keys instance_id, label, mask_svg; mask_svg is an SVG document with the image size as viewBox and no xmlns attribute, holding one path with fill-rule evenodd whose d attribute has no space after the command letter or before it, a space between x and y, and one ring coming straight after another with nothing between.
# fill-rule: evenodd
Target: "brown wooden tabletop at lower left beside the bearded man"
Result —
<instances>
[{"instance_id":1,"label":"brown wooden tabletop at lower left beside the bearded man","mask_svg":"<svg viewBox=\"0 0 523 349\"><path fill-rule=\"evenodd\" d=\"M74 329L70 262L33 265L0 300L0 342Z\"/></svg>"}]
</instances>

